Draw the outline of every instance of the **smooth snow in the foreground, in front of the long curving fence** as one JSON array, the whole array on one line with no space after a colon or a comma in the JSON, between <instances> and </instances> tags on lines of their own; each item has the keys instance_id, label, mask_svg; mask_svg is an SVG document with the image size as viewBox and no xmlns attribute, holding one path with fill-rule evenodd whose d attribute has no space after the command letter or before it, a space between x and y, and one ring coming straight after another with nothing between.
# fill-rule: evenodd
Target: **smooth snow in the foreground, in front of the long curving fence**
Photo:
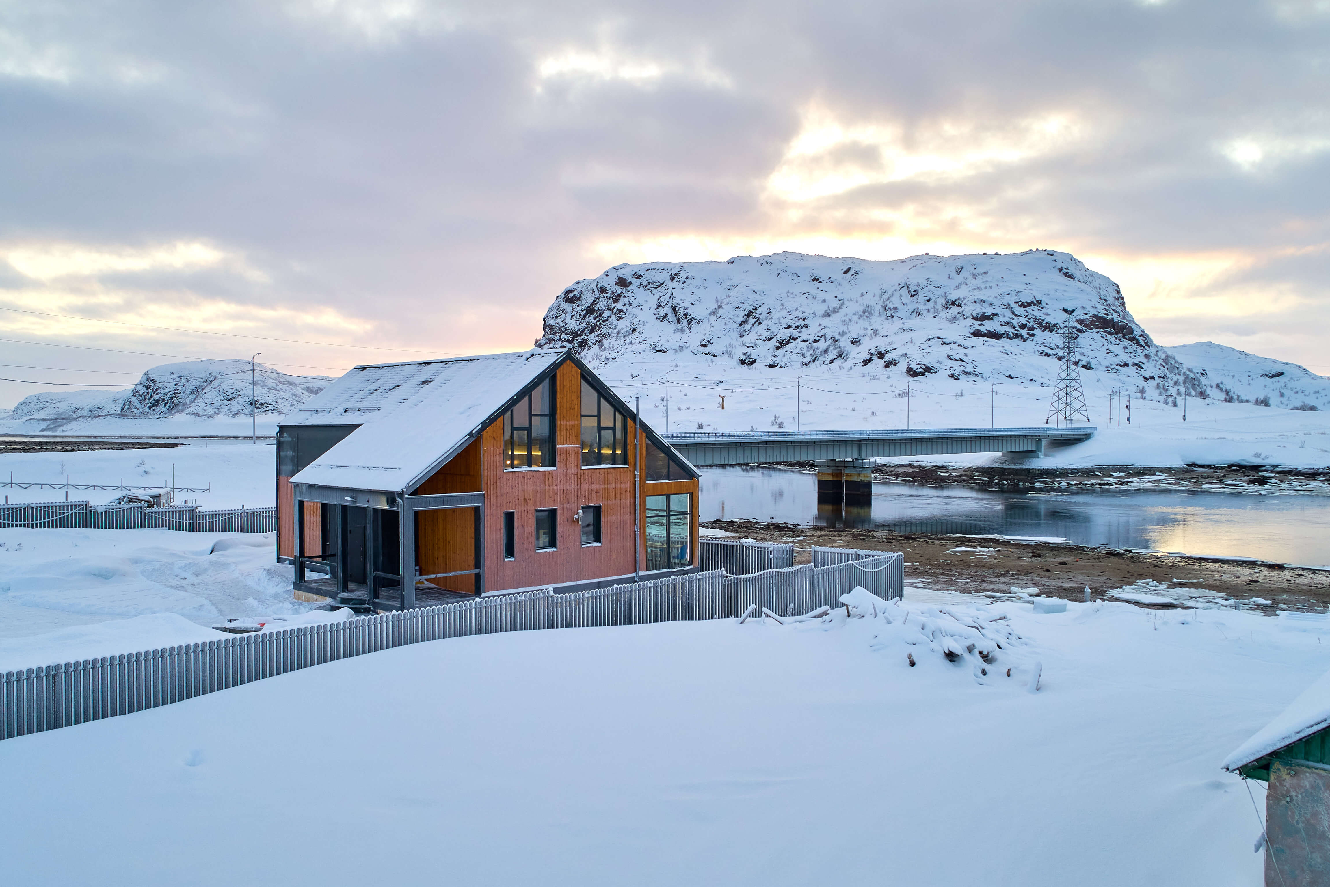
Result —
<instances>
[{"instance_id":1,"label":"smooth snow in the foreground, in front of the long curving fence","mask_svg":"<svg viewBox=\"0 0 1330 887\"><path fill-rule=\"evenodd\" d=\"M1319 626L932 594L891 625L420 644L0 742L7 876L1261 883L1253 801L1220 763L1325 672ZM1001 614L988 630L1020 637L987 676L908 642Z\"/></svg>"}]
</instances>

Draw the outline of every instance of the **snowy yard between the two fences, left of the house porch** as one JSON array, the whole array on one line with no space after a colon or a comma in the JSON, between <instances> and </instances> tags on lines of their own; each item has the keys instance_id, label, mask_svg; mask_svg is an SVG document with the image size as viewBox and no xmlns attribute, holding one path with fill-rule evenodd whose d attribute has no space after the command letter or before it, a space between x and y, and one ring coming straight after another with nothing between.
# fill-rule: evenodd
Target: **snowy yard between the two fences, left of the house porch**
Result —
<instances>
[{"instance_id":1,"label":"snowy yard between the two fences, left of the house porch","mask_svg":"<svg viewBox=\"0 0 1330 887\"><path fill-rule=\"evenodd\" d=\"M311 609L291 598L291 568L274 563L274 545L271 533L0 529L0 660L24 649L12 638L109 620L174 614L140 626L178 644L198 640L189 636L194 624ZM181 640L165 640L182 628ZM77 654L74 641L97 634L74 633L68 649Z\"/></svg>"}]
</instances>

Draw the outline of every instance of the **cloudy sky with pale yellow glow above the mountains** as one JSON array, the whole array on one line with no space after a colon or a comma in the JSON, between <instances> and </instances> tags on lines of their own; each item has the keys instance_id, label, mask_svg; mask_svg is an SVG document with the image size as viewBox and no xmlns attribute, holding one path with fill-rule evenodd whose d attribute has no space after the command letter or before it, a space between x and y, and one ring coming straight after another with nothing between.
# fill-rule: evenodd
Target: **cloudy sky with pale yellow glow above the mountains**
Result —
<instances>
[{"instance_id":1,"label":"cloudy sky with pale yellow glow above the mountains","mask_svg":"<svg viewBox=\"0 0 1330 887\"><path fill-rule=\"evenodd\" d=\"M620 262L1028 247L1330 374L1330 0L0 0L0 121L7 378L336 375L529 347Z\"/></svg>"}]
</instances>

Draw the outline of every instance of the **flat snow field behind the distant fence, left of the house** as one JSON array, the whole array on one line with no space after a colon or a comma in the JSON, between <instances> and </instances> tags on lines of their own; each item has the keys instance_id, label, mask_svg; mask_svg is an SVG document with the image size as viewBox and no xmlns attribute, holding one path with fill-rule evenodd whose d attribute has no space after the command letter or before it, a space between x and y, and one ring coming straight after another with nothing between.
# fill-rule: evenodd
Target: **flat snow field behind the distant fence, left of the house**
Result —
<instances>
[{"instance_id":1,"label":"flat snow field behind the distant fence, left of the house","mask_svg":"<svg viewBox=\"0 0 1330 887\"><path fill-rule=\"evenodd\" d=\"M181 492L176 500L197 500L201 508L267 507L277 500L271 440L198 440L184 447L153 449L89 449L81 452L0 453L0 481L120 484L137 487L209 487L211 492ZM8 501L63 501L64 489L4 487ZM120 492L72 489L69 499L106 503Z\"/></svg>"}]
</instances>

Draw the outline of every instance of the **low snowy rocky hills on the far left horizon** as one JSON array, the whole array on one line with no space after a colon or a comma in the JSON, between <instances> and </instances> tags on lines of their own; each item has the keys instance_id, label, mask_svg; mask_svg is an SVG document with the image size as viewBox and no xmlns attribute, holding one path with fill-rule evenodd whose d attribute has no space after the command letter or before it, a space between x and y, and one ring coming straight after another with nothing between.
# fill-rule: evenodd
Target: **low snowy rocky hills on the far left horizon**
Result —
<instances>
[{"instance_id":1,"label":"low snowy rocky hills on the far left horizon","mask_svg":"<svg viewBox=\"0 0 1330 887\"><path fill-rule=\"evenodd\" d=\"M326 376L291 376L255 364L257 412L291 412L330 382ZM13 408L11 419L60 423L102 418L217 419L249 415L249 360L190 360L153 367L128 390L28 395Z\"/></svg>"}]
</instances>

